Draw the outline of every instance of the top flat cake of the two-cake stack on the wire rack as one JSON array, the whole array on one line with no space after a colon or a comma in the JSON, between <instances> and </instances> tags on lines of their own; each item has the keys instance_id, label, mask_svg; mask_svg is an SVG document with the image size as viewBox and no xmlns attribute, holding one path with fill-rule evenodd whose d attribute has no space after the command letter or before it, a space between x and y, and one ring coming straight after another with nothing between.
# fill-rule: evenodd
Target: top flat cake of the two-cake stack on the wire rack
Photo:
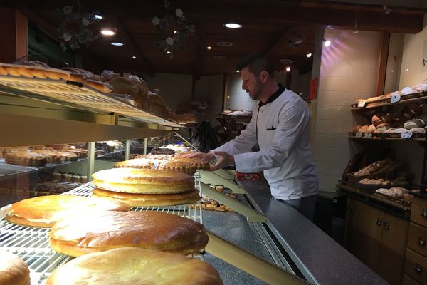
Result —
<instances>
[{"instance_id":1,"label":"top flat cake of the two-cake stack on the wire rack","mask_svg":"<svg viewBox=\"0 0 427 285\"><path fill-rule=\"evenodd\" d=\"M95 187L114 192L168 194L194 190L193 177L172 170L112 168L95 172L92 177Z\"/></svg>"}]
</instances>

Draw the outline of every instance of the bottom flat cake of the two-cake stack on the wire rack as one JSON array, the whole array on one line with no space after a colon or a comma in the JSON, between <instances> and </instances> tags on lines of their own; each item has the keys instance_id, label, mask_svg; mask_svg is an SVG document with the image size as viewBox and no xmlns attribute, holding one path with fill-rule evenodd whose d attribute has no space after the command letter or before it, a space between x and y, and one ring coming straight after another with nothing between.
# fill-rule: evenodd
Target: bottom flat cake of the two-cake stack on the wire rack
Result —
<instances>
[{"instance_id":1,"label":"bottom flat cake of the two-cake stack on the wire rack","mask_svg":"<svg viewBox=\"0 0 427 285\"><path fill-rule=\"evenodd\" d=\"M172 194L137 194L112 192L95 188L93 197L108 198L130 205L131 207L172 206L199 201L199 191Z\"/></svg>"}]
</instances>

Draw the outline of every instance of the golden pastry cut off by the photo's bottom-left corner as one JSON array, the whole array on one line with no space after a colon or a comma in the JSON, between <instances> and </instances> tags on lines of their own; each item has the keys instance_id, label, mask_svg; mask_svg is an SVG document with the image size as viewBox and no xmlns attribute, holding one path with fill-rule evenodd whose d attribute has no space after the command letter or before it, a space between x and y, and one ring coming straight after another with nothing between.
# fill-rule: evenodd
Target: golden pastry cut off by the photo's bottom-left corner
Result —
<instances>
[{"instance_id":1,"label":"golden pastry cut off by the photo's bottom-left corner","mask_svg":"<svg viewBox=\"0 0 427 285\"><path fill-rule=\"evenodd\" d=\"M17 255L0 250L0 285L29 285L30 270Z\"/></svg>"}]
</instances>

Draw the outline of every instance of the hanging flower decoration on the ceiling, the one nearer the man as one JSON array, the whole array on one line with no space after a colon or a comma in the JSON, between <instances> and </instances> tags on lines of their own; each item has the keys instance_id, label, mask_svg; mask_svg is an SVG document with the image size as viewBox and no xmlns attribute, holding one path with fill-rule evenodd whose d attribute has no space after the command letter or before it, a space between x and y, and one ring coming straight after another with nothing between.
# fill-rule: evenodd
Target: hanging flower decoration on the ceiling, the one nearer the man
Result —
<instances>
[{"instance_id":1,"label":"hanging flower decoration on the ceiling, the one nearer the man","mask_svg":"<svg viewBox=\"0 0 427 285\"><path fill-rule=\"evenodd\" d=\"M164 0L164 9L167 14L163 18L154 17L152 24L156 26L159 33L156 38L156 46L169 53L169 58L174 57L176 48L182 49L185 47L186 38L194 34L194 24L189 22L181 9L172 8L168 0ZM182 28L172 30L172 24L179 24Z\"/></svg>"}]
</instances>

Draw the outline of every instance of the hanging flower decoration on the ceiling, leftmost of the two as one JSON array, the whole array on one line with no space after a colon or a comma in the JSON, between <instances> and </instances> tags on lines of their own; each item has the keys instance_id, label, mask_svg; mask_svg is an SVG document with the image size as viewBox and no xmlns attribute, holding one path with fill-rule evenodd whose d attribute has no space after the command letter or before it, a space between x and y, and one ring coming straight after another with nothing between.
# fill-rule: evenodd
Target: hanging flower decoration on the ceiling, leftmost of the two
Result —
<instances>
[{"instance_id":1,"label":"hanging flower decoration on the ceiling, leftmost of the two","mask_svg":"<svg viewBox=\"0 0 427 285\"><path fill-rule=\"evenodd\" d=\"M70 6L64 6L63 9L56 9L56 15L62 20L56 30L60 40L59 45L63 51L66 51L67 48L75 50L82 45L89 46L89 43L98 38L88 28L88 26L97 21L95 19L96 14L99 13L81 11L80 1Z\"/></svg>"}]
</instances>

